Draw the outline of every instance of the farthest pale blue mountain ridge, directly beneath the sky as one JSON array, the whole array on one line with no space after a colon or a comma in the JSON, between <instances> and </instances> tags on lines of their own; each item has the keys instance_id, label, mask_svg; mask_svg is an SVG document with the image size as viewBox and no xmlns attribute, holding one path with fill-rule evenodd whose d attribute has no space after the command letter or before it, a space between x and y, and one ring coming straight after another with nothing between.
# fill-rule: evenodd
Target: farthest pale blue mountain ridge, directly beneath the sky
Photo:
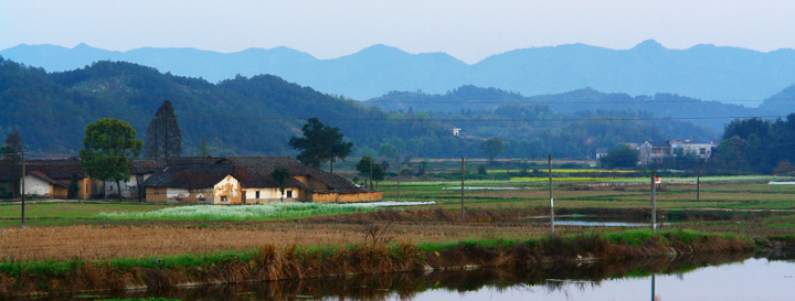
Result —
<instances>
[{"instance_id":1,"label":"farthest pale blue mountain ridge, directly beneath the sky","mask_svg":"<svg viewBox=\"0 0 795 301\"><path fill-rule=\"evenodd\" d=\"M237 74L273 74L359 100L392 90L444 94L475 85L523 95L583 87L629 95L670 93L749 105L746 100L761 101L795 83L795 50L757 52L709 44L669 50L653 40L628 50L585 44L522 49L471 65L445 53L410 54L386 45L332 60L288 47L226 54L152 47L114 52L85 44L73 49L22 44L0 51L0 56L47 71L75 69L103 60L126 61L210 82Z\"/></svg>"}]
</instances>

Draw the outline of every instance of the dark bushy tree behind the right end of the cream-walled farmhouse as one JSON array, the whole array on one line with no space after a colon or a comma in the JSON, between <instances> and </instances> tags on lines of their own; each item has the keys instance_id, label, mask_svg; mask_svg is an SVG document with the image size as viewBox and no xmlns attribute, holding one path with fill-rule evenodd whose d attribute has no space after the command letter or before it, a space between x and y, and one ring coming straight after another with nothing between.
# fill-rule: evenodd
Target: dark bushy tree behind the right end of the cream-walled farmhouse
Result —
<instances>
[{"instance_id":1,"label":"dark bushy tree behind the right end of the cream-walled farmhouse","mask_svg":"<svg viewBox=\"0 0 795 301\"><path fill-rule=\"evenodd\" d=\"M339 128L325 126L317 117L309 118L301 131L304 137L293 137L289 146L303 150L296 157L298 161L316 169L329 162L329 171L333 173L333 162L344 160L353 148L353 142L342 141L344 135Z\"/></svg>"}]
</instances>

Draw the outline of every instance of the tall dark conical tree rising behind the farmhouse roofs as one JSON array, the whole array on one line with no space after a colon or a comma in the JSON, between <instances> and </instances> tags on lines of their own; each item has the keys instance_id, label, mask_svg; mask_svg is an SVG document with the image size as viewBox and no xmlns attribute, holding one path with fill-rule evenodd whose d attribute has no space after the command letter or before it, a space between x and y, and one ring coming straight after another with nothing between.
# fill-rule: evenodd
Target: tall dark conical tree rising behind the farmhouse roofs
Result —
<instances>
[{"instance_id":1,"label":"tall dark conical tree rising behind the farmhouse roofs","mask_svg":"<svg viewBox=\"0 0 795 301\"><path fill-rule=\"evenodd\" d=\"M155 118L149 122L144 154L147 158L169 158L182 153L182 132L171 100L166 100L158 108Z\"/></svg>"}]
</instances>

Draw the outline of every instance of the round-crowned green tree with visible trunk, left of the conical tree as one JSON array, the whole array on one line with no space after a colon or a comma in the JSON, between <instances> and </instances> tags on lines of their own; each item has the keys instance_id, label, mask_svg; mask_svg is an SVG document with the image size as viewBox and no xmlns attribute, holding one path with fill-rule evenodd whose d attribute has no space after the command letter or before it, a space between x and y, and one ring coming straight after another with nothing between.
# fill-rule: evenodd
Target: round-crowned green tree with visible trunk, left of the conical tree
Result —
<instances>
[{"instance_id":1,"label":"round-crowned green tree with visible trunk, left of the conical tree","mask_svg":"<svg viewBox=\"0 0 795 301\"><path fill-rule=\"evenodd\" d=\"M127 121L103 118L86 126L81 159L88 176L116 182L130 178L132 158L140 154L144 141L136 138L136 130ZM118 192L119 200L121 191Z\"/></svg>"}]
</instances>

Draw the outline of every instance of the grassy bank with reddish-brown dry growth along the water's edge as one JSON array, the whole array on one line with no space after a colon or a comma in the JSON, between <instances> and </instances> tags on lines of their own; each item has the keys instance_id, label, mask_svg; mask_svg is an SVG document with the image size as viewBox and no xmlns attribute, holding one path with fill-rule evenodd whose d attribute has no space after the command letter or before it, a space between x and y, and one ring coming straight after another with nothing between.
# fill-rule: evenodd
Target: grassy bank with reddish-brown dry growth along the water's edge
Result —
<instances>
[{"instance_id":1,"label":"grassy bank with reddish-brown dry growth along the water's edge","mask_svg":"<svg viewBox=\"0 0 795 301\"><path fill-rule=\"evenodd\" d=\"M370 275L469 266L522 266L586 258L644 258L676 254L743 251L750 239L690 230L627 230L529 240L448 244L358 244L149 257L144 259L7 261L0 264L0 298L84 290L237 283L278 279Z\"/></svg>"}]
</instances>

